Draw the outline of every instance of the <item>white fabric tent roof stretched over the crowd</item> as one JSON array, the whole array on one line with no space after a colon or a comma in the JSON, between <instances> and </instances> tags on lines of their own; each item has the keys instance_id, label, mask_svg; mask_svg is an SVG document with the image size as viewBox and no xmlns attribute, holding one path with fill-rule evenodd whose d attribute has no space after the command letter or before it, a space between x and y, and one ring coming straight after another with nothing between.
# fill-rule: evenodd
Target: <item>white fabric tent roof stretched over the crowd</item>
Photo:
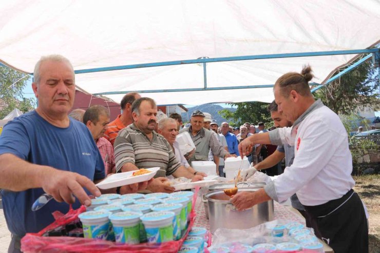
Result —
<instances>
[{"instance_id":1,"label":"white fabric tent roof stretched over the crowd","mask_svg":"<svg viewBox=\"0 0 380 253\"><path fill-rule=\"evenodd\" d=\"M33 72L62 54L75 70L199 57L364 49L380 40L380 2L22 1L0 3L0 61ZM310 64L316 83L357 55L207 63L207 87L272 85ZM203 88L203 66L185 64L77 74L89 93ZM146 93L158 104L273 100L272 88ZM123 94L106 95L120 102Z\"/></svg>"}]
</instances>

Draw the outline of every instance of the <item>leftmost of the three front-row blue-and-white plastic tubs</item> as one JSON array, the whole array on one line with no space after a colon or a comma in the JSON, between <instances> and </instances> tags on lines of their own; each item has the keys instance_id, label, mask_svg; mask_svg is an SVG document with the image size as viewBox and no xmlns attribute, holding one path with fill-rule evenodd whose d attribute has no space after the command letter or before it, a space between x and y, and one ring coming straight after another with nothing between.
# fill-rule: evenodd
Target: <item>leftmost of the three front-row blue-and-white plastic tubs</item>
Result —
<instances>
[{"instance_id":1,"label":"leftmost of the three front-row blue-and-white plastic tubs","mask_svg":"<svg viewBox=\"0 0 380 253\"><path fill-rule=\"evenodd\" d=\"M105 210L88 211L79 215L83 225L83 236L91 239L107 240L110 212Z\"/></svg>"}]
</instances>

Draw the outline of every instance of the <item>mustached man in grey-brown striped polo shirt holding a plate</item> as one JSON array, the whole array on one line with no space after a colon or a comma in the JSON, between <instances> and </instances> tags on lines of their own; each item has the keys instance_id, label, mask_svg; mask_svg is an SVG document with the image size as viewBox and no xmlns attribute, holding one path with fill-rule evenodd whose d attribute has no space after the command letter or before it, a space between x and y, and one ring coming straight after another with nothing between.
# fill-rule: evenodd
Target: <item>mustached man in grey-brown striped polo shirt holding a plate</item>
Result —
<instances>
[{"instance_id":1,"label":"mustached man in grey-brown striped polo shirt holding a plate","mask_svg":"<svg viewBox=\"0 0 380 253\"><path fill-rule=\"evenodd\" d=\"M180 165L166 139L154 131L157 106L153 99L140 98L132 104L133 124L120 130L113 147L115 148L116 170L123 172L141 168L160 167L155 179L148 182L146 189L152 192L173 192L165 184L166 177L185 177L192 181L203 180ZM120 193L143 188L143 183L123 186Z\"/></svg>"}]
</instances>

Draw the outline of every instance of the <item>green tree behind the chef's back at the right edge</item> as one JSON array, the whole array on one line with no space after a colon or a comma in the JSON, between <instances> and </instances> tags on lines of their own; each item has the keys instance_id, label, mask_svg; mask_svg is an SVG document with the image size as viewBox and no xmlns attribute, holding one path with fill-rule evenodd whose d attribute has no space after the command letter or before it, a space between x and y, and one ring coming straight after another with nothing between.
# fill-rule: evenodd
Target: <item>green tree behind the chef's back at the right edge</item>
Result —
<instances>
[{"instance_id":1,"label":"green tree behind the chef's back at the right edge","mask_svg":"<svg viewBox=\"0 0 380 253\"><path fill-rule=\"evenodd\" d=\"M377 109L380 104L377 91L378 75L373 64L367 61L319 89L314 96L335 113L348 115L360 106Z\"/></svg>"}]
</instances>

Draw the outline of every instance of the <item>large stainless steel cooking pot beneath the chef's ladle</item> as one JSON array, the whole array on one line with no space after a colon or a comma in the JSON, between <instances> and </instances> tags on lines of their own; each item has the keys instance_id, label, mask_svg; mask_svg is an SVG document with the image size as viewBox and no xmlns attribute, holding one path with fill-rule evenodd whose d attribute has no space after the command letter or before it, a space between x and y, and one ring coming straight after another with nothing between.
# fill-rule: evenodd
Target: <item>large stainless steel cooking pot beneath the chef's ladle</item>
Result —
<instances>
[{"instance_id":1,"label":"large stainless steel cooking pot beneath the chef's ladle","mask_svg":"<svg viewBox=\"0 0 380 253\"><path fill-rule=\"evenodd\" d=\"M240 188L239 191L257 191L260 188ZM208 220L210 231L218 228L246 229L274 219L273 200L263 202L246 209L236 210L230 197L223 190L215 190L205 194L208 201Z\"/></svg>"}]
</instances>

